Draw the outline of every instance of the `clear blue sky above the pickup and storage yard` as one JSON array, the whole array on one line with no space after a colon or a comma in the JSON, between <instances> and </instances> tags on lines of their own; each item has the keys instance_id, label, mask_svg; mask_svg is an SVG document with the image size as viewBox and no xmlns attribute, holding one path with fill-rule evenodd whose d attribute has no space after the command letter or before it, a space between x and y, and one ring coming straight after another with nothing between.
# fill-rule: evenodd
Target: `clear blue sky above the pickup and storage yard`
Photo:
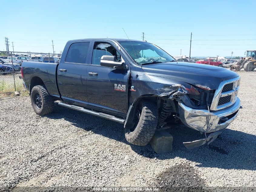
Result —
<instances>
[{"instance_id":1,"label":"clear blue sky above the pickup and storage yard","mask_svg":"<svg viewBox=\"0 0 256 192\"><path fill-rule=\"evenodd\" d=\"M191 56L256 49L255 10L248 11L256 1L5 0L1 7L1 51L5 37L14 51L52 52L53 40L59 53L71 39L126 38L122 28L130 39L145 32L145 40L172 56L189 56L191 32Z\"/></svg>"}]
</instances>

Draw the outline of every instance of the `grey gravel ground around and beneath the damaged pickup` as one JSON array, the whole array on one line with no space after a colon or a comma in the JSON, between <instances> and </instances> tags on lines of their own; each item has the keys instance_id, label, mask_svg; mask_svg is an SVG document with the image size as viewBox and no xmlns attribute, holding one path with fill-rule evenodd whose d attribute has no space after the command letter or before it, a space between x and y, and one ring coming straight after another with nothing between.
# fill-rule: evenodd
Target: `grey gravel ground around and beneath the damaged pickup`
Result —
<instances>
[{"instance_id":1,"label":"grey gravel ground around and beneath the damaged pickup","mask_svg":"<svg viewBox=\"0 0 256 192\"><path fill-rule=\"evenodd\" d=\"M174 143L166 154L127 143L123 125L110 120L57 103L52 114L38 116L27 96L0 99L0 187L255 190L256 72L238 73L243 109L237 119L209 146L192 150L182 142L203 137L199 132L168 130Z\"/></svg>"}]
</instances>

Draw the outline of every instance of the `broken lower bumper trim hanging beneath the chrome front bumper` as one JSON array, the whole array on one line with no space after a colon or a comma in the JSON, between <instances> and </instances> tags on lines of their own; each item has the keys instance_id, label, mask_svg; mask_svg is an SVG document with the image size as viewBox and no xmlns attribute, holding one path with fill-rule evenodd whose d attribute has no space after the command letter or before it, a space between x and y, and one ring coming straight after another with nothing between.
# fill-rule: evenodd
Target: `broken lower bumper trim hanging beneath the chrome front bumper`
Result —
<instances>
[{"instance_id":1,"label":"broken lower bumper trim hanging beneath the chrome front bumper","mask_svg":"<svg viewBox=\"0 0 256 192\"><path fill-rule=\"evenodd\" d=\"M213 142L218 137L219 134L221 134L221 132L223 130L224 129L215 131L215 132L209 134L207 138L195 140L195 141L191 141L191 142L183 142L183 144L187 149L193 149L195 147L199 147L201 145L204 145L207 142L209 145L211 142Z\"/></svg>"}]
</instances>

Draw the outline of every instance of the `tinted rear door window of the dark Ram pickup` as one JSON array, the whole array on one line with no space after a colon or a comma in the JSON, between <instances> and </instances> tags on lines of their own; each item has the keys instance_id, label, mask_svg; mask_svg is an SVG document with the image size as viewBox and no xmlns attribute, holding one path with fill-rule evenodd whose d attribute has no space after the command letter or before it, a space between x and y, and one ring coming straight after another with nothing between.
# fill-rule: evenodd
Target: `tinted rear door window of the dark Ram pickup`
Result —
<instances>
[{"instance_id":1,"label":"tinted rear door window of the dark Ram pickup","mask_svg":"<svg viewBox=\"0 0 256 192\"><path fill-rule=\"evenodd\" d=\"M73 43L68 49L66 62L85 63L90 42Z\"/></svg>"}]
</instances>

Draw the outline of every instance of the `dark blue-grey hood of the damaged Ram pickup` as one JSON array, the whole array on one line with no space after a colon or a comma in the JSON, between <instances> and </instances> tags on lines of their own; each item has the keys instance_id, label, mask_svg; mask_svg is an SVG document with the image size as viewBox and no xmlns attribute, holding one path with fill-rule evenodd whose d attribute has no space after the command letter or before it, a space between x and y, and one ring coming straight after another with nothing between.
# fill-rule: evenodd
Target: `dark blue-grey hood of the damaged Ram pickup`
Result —
<instances>
[{"instance_id":1,"label":"dark blue-grey hood of the damaged Ram pickup","mask_svg":"<svg viewBox=\"0 0 256 192\"><path fill-rule=\"evenodd\" d=\"M156 63L144 65L142 69L147 75L165 77L210 89L218 89L222 81L239 76L236 72L222 67L187 62Z\"/></svg>"}]
</instances>

